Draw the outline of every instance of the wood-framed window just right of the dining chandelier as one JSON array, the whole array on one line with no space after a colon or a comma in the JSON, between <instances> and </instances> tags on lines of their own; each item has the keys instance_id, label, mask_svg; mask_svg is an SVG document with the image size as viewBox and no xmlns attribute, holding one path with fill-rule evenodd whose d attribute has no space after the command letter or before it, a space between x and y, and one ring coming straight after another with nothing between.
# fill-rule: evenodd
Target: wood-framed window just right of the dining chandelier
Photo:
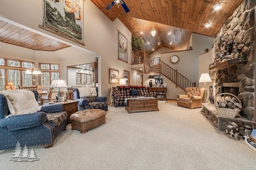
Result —
<instances>
[{"instance_id":1,"label":"wood-framed window just right of the dining chandelier","mask_svg":"<svg viewBox=\"0 0 256 170\"><path fill-rule=\"evenodd\" d=\"M39 69L42 72L40 75L40 84L44 88L50 86L53 80L60 79L60 64L39 63Z\"/></svg>"}]
</instances>

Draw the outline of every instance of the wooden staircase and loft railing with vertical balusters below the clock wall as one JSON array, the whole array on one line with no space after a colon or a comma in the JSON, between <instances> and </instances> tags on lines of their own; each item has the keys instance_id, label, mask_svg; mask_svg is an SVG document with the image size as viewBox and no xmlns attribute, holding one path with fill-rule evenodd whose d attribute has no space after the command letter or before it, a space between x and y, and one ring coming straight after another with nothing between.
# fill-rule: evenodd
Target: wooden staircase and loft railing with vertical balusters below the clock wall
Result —
<instances>
[{"instance_id":1,"label":"wooden staircase and loft railing with vertical balusters below the clock wall","mask_svg":"<svg viewBox=\"0 0 256 170\"><path fill-rule=\"evenodd\" d=\"M150 56L144 51L132 52L132 63L141 64L144 63L144 73L159 73L168 78L171 82L185 91L187 87L196 87L196 82L188 80L185 76L180 74L178 70L174 70L161 59L150 60Z\"/></svg>"}]
</instances>

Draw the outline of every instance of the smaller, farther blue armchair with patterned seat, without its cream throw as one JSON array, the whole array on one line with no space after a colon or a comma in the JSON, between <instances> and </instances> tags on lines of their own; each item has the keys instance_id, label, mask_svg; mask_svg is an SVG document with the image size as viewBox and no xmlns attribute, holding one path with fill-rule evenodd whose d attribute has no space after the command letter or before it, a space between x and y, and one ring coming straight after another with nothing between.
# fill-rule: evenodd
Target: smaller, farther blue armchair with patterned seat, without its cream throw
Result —
<instances>
[{"instance_id":1,"label":"smaller, farther blue armchair with patterned seat, without its cream throw","mask_svg":"<svg viewBox=\"0 0 256 170\"><path fill-rule=\"evenodd\" d=\"M82 98L79 94L79 90L77 88L73 89L74 100L78 102L78 111L84 109L102 109L108 111L107 97L99 97L99 96L83 96Z\"/></svg>"}]
</instances>

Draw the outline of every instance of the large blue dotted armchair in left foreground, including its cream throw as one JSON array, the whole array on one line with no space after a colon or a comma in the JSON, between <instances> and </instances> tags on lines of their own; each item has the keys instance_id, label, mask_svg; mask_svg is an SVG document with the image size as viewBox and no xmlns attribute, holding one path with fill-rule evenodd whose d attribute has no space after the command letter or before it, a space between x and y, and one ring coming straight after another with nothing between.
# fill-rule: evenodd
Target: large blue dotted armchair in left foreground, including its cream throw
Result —
<instances>
[{"instance_id":1,"label":"large blue dotted armchair in left foreground, including its cream throw","mask_svg":"<svg viewBox=\"0 0 256 170\"><path fill-rule=\"evenodd\" d=\"M38 106L38 92L4 90L0 92L0 150L44 145L66 129L68 115L62 104Z\"/></svg>"}]
</instances>

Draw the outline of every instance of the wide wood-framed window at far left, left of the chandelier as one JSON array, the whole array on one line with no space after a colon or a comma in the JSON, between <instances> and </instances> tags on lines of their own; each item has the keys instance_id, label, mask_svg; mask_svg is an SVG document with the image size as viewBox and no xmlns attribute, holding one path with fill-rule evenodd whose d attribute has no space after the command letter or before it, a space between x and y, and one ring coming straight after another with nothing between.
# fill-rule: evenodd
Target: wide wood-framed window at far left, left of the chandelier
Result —
<instances>
[{"instance_id":1,"label":"wide wood-framed window at far left, left of the chandelier","mask_svg":"<svg viewBox=\"0 0 256 170\"><path fill-rule=\"evenodd\" d=\"M15 88L33 85L33 74L25 74L32 65L29 61L0 58L0 89L4 89L8 82L13 82Z\"/></svg>"}]
</instances>

